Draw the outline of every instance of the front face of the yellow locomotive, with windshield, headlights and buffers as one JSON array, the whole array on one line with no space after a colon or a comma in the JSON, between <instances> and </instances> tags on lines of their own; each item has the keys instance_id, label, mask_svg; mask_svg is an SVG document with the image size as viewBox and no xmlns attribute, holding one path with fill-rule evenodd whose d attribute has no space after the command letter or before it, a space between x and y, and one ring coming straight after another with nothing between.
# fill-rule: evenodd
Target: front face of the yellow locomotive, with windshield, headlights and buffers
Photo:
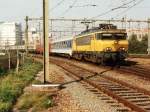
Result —
<instances>
[{"instance_id":1,"label":"front face of the yellow locomotive, with windshield, headlights and buffers","mask_svg":"<svg viewBox=\"0 0 150 112\"><path fill-rule=\"evenodd\" d=\"M118 62L127 57L128 41L125 30L96 33L95 51L101 51L103 61Z\"/></svg>"}]
</instances>

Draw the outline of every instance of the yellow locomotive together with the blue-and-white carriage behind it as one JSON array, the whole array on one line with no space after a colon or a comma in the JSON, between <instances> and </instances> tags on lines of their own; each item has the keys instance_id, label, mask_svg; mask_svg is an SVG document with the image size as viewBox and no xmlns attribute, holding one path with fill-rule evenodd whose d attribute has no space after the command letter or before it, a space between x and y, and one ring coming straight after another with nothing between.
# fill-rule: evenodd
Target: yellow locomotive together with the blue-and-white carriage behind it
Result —
<instances>
[{"instance_id":1,"label":"yellow locomotive together with the blue-and-white carriage behind it","mask_svg":"<svg viewBox=\"0 0 150 112\"><path fill-rule=\"evenodd\" d=\"M52 41L51 54L101 64L120 62L128 55L127 33L113 24L100 24L74 37Z\"/></svg>"}]
</instances>

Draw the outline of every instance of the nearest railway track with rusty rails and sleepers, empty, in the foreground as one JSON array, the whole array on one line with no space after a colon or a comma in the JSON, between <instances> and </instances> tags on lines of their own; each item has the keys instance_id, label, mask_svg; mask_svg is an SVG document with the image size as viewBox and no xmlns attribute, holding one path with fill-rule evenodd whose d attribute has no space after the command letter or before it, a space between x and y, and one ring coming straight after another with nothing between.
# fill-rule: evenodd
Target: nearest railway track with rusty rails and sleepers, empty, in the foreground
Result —
<instances>
[{"instance_id":1,"label":"nearest railway track with rusty rails and sleepers, empty, in the foreground","mask_svg":"<svg viewBox=\"0 0 150 112\"><path fill-rule=\"evenodd\" d=\"M105 76L104 73L107 70L102 73L96 73L62 60L51 59L51 62L66 70L70 77L84 84L89 84L126 107L117 109L117 111L150 112L149 91ZM93 90L94 93L98 94L97 90ZM106 100L109 100L109 98L106 98Z\"/></svg>"}]
</instances>

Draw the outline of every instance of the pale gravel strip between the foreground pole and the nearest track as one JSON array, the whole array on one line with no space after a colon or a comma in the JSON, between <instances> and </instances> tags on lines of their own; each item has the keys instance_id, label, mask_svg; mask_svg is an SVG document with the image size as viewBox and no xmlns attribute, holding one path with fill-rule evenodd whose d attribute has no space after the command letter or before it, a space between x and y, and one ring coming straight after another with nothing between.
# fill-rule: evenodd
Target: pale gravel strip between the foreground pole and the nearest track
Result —
<instances>
[{"instance_id":1,"label":"pale gravel strip between the foreground pole and the nearest track","mask_svg":"<svg viewBox=\"0 0 150 112\"><path fill-rule=\"evenodd\" d=\"M99 95L94 94L82 84L72 82L74 80L56 65L50 65L50 73L51 82L58 83L61 81L68 83L65 85L65 89L62 89L58 94L58 106L50 109L50 112L116 112L116 109L124 107L101 92ZM102 100L105 98L106 100ZM110 106L110 103L107 103L108 101L113 102L113 106Z\"/></svg>"}]
</instances>

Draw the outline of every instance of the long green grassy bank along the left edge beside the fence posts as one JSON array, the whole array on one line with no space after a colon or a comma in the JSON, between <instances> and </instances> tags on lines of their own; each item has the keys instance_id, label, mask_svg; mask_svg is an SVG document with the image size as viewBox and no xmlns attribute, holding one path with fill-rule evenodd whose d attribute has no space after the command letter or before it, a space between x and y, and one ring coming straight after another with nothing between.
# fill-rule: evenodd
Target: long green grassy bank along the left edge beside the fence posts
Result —
<instances>
[{"instance_id":1,"label":"long green grassy bank along the left edge beside the fence posts","mask_svg":"<svg viewBox=\"0 0 150 112\"><path fill-rule=\"evenodd\" d=\"M20 67L19 73L10 71L0 82L0 112L10 112L17 98L41 70L42 65L31 60Z\"/></svg>"}]
</instances>

